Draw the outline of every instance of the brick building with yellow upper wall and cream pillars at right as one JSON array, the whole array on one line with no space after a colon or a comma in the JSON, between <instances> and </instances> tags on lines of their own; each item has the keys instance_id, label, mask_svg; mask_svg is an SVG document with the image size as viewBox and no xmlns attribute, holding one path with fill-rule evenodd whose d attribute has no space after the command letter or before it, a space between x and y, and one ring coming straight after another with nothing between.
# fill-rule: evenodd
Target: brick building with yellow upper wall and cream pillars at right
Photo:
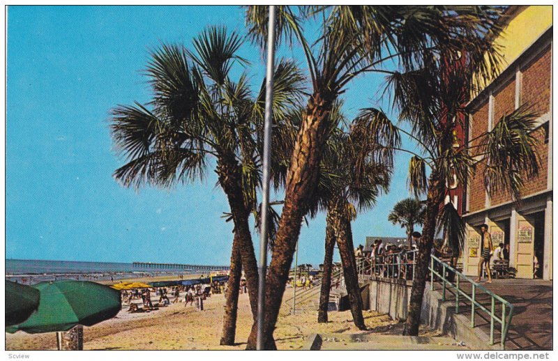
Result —
<instances>
[{"instance_id":1,"label":"brick building with yellow upper wall and cream pillars at right","mask_svg":"<svg viewBox=\"0 0 558 361\"><path fill-rule=\"evenodd\" d=\"M506 192L488 197L483 167L476 169L464 201L463 268L467 275L476 275L479 226L486 223L495 246L509 245L516 277L552 279L552 6L511 6L506 15L504 32L494 40L502 47L502 70L467 105L465 137L474 146L474 139L492 130L499 118L531 105L540 114L534 134L540 140L541 168L538 178L525 182L520 205ZM540 265L536 275L535 256Z\"/></svg>"}]
</instances>

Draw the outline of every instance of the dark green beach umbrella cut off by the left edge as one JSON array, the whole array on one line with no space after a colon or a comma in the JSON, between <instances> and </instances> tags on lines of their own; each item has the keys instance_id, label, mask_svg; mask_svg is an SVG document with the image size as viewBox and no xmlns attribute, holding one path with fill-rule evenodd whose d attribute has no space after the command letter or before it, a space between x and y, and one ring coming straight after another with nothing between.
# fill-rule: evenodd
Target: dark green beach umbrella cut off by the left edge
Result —
<instances>
[{"instance_id":1,"label":"dark green beach umbrella cut off by the left edge","mask_svg":"<svg viewBox=\"0 0 558 361\"><path fill-rule=\"evenodd\" d=\"M30 286L6 281L6 326L27 320L39 307L39 291Z\"/></svg>"}]
</instances>

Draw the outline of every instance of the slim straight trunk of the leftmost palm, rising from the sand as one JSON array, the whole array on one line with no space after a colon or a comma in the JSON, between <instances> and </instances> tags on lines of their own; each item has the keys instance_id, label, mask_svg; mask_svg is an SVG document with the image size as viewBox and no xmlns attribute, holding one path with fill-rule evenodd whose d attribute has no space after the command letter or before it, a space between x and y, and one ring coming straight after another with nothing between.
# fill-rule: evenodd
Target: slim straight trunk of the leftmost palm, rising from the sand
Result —
<instances>
[{"instance_id":1,"label":"slim straight trunk of the leftmost palm, rising from the sand","mask_svg":"<svg viewBox=\"0 0 558 361\"><path fill-rule=\"evenodd\" d=\"M223 333L221 334L221 345L234 345L236 333L236 312L239 305L240 279L242 275L242 259L239 240L234 236L232 241L231 270L229 272L229 286L227 291L227 302L225 303L225 316L223 316Z\"/></svg>"}]
</instances>

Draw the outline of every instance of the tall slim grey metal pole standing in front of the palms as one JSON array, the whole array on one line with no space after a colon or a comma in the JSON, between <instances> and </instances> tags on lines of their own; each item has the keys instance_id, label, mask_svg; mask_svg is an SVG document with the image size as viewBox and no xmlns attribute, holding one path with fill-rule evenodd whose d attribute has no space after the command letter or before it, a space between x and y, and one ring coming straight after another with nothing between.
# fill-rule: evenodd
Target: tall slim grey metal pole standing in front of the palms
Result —
<instances>
[{"instance_id":1,"label":"tall slim grey metal pole standing in front of the palms","mask_svg":"<svg viewBox=\"0 0 558 361\"><path fill-rule=\"evenodd\" d=\"M269 6L266 70L266 110L264 125L264 164L262 181L262 229L259 234L259 285L257 297L257 349L264 349L264 316L267 268L267 209L271 167L271 105L273 104L273 61L275 58L275 6Z\"/></svg>"}]
</instances>

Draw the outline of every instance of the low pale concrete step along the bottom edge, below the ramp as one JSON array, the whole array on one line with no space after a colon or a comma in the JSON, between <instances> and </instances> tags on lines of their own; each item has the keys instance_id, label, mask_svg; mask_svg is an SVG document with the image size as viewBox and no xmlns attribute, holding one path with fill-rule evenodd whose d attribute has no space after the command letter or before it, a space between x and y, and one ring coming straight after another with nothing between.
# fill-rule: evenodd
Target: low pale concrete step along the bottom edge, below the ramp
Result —
<instances>
[{"instance_id":1,"label":"low pale concrete step along the bottom edge, below the ramp","mask_svg":"<svg viewBox=\"0 0 558 361\"><path fill-rule=\"evenodd\" d=\"M311 335L306 350L452 350L466 351L451 337L399 336L399 335Z\"/></svg>"}]
</instances>

